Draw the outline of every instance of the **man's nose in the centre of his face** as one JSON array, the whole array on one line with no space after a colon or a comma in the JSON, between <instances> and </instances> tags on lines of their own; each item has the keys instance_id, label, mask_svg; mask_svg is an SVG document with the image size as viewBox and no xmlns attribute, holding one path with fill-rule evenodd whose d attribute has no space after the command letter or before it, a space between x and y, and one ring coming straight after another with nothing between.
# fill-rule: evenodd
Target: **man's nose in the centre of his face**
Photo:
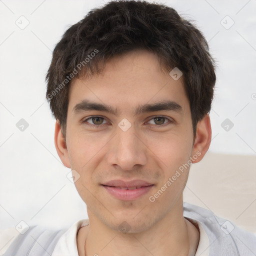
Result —
<instances>
[{"instance_id":1,"label":"man's nose in the centre of his face","mask_svg":"<svg viewBox=\"0 0 256 256\"><path fill-rule=\"evenodd\" d=\"M138 165L145 165L146 144L141 136L135 133L131 126L128 130L123 131L117 127L115 136L109 141L109 150L107 152L107 163L114 165L122 170L132 170Z\"/></svg>"}]
</instances>

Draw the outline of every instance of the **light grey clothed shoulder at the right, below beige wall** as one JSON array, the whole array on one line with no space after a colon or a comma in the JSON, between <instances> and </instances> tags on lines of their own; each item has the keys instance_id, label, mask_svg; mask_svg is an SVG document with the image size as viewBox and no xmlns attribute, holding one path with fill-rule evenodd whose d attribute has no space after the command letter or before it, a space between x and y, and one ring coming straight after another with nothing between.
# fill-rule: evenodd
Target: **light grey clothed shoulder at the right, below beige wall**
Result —
<instances>
[{"instance_id":1,"label":"light grey clothed shoulder at the right, below beige wall","mask_svg":"<svg viewBox=\"0 0 256 256\"><path fill-rule=\"evenodd\" d=\"M256 234L197 205L184 202L183 208L184 216L200 222L205 230L209 238L210 255L255 255Z\"/></svg>"}]
</instances>

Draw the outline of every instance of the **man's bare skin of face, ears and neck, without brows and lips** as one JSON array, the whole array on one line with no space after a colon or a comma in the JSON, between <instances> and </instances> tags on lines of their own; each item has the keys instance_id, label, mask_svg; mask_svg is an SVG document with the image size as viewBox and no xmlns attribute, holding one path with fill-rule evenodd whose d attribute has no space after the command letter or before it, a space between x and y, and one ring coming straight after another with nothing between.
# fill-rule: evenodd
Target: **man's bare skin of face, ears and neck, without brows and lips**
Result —
<instances>
[{"instance_id":1,"label":"man's bare skin of face, ears and neck, without brows and lips","mask_svg":"<svg viewBox=\"0 0 256 256\"><path fill-rule=\"evenodd\" d=\"M111 105L120 114L72 111L84 99ZM182 111L159 110L133 116L137 105L161 100L177 102ZM86 120L91 115L103 119ZM159 124L153 119L157 116L168 119L160 119L164 123ZM123 118L131 124L126 131L118 126ZM154 202L148 197L196 152L192 162L200 161L210 139L207 114L197 123L193 136L182 76L175 81L161 71L157 57L146 50L109 60L100 75L73 80L66 138L57 121L55 146L63 164L79 173L75 186L87 205L89 225L77 234L79 255L194 255L199 232L183 217L182 192L189 168ZM124 201L112 197L101 185L112 179L142 179L154 186L139 198ZM118 229L123 221L129 225L125 233Z\"/></svg>"}]
</instances>

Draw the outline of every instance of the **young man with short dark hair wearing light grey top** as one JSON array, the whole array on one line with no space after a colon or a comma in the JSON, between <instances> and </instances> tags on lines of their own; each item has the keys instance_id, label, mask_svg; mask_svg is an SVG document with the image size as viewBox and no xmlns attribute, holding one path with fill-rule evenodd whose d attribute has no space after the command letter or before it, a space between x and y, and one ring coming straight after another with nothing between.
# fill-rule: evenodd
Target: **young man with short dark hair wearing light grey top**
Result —
<instances>
[{"instance_id":1,"label":"young man with short dark hair wearing light grey top","mask_svg":"<svg viewBox=\"0 0 256 256\"><path fill-rule=\"evenodd\" d=\"M46 78L55 147L88 219L33 227L4 255L256 254L255 235L183 203L215 84L194 25L165 5L111 1L67 29Z\"/></svg>"}]
</instances>

